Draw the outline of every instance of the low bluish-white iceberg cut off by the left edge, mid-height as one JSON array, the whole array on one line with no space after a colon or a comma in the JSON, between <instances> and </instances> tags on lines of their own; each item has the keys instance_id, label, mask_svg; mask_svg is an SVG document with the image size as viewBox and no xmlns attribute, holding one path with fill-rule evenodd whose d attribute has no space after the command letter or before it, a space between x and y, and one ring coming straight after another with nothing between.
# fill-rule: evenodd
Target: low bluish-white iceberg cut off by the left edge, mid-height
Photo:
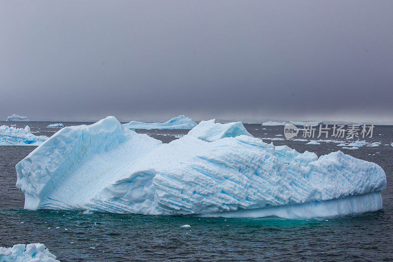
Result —
<instances>
[{"instance_id":1,"label":"low bluish-white iceberg cut off by the left edge, mid-height","mask_svg":"<svg viewBox=\"0 0 393 262\"><path fill-rule=\"evenodd\" d=\"M31 134L28 125L25 128L0 126L0 146L39 146L47 139L47 136Z\"/></svg>"}]
</instances>

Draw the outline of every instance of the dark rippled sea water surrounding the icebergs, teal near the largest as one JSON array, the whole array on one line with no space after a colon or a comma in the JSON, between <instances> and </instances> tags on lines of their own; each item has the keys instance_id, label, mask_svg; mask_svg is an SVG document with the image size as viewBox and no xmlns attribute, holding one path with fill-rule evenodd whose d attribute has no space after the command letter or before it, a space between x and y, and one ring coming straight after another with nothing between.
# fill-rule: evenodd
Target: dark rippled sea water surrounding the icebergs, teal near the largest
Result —
<instances>
[{"instance_id":1,"label":"dark rippled sea water surrounding the icebergs, teal near the largest","mask_svg":"<svg viewBox=\"0 0 393 262\"><path fill-rule=\"evenodd\" d=\"M32 132L37 132L35 135L46 136L59 130L47 128L50 123L54 122L0 121L0 125L17 127L28 124ZM299 152L309 150L318 156L339 150L339 140L349 142L328 138L322 139L326 141L320 142L321 145L306 145L307 141L280 136L282 126L245 124L245 127L267 143L287 145ZM164 143L188 132L136 131ZM40 242L60 261L392 261L393 126L376 126L373 137L362 140L381 144L342 151L375 162L384 169L388 185L382 191L383 209L357 216L308 220L24 210L24 194L15 187L15 165L35 146L0 146L0 246ZM191 227L181 228L186 224Z\"/></svg>"}]
</instances>

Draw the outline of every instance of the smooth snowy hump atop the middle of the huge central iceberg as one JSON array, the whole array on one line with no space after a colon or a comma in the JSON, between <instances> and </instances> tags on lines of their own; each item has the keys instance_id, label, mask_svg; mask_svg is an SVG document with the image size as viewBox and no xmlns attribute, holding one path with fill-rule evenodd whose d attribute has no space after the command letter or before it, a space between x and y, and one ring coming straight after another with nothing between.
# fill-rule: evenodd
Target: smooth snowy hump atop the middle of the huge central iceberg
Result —
<instances>
[{"instance_id":1,"label":"smooth snowy hump atop the middle of the huge central iceberg","mask_svg":"<svg viewBox=\"0 0 393 262\"><path fill-rule=\"evenodd\" d=\"M240 135L252 136L244 128L242 122L231 122L227 124L216 123L216 119L200 121L188 135L197 137L207 142L213 142L225 137L237 137Z\"/></svg>"}]
</instances>

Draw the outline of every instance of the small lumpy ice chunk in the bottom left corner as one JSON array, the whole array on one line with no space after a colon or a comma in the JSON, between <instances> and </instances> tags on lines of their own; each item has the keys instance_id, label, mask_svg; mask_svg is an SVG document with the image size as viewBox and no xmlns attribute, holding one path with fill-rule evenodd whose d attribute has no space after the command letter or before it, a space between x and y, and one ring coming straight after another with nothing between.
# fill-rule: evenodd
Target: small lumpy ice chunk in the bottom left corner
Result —
<instances>
[{"instance_id":1,"label":"small lumpy ice chunk in the bottom left corner","mask_svg":"<svg viewBox=\"0 0 393 262\"><path fill-rule=\"evenodd\" d=\"M44 244L17 244L0 247L0 262L58 262Z\"/></svg>"}]
</instances>

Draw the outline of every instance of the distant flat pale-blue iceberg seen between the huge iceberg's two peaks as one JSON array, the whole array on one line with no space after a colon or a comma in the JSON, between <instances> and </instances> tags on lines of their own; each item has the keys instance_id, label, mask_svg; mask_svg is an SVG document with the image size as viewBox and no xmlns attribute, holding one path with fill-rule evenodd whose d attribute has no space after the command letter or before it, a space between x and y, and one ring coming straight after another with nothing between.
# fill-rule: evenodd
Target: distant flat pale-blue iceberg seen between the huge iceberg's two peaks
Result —
<instances>
[{"instance_id":1,"label":"distant flat pale-blue iceberg seen between the huge iceberg's two peaks","mask_svg":"<svg viewBox=\"0 0 393 262\"><path fill-rule=\"evenodd\" d=\"M192 129L197 123L192 118L186 116L177 116L165 123L144 123L139 121L131 121L123 124L129 129Z\"/></svg>"}]
</instances>

